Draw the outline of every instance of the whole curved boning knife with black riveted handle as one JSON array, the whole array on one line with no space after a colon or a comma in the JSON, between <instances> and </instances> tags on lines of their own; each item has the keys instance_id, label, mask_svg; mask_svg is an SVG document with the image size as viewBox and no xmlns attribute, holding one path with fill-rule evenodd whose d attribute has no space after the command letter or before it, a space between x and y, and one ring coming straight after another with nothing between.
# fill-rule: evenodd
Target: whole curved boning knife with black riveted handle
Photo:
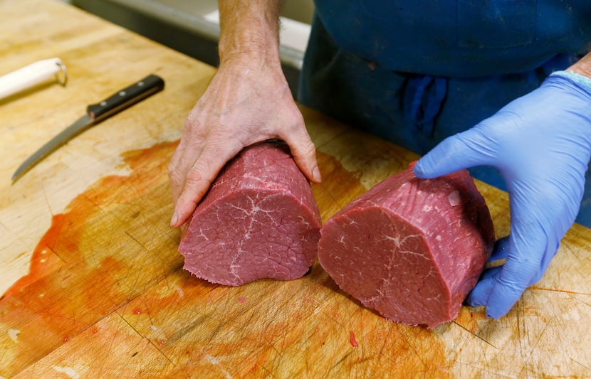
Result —
<instances>
[{"instance_id":1,"label":"whole curved boning knife with black riveted handle","mask_svg":"<svg viewBox=\"0 0 591 379\"><path fill-rule=\"evenodd\" d=\"M76 120L66 129L53 137L49 142L41 146L35 151L33 155L29 156L21 166L19 166L12 175L12 183L14 184L23 174L32 169L46 156L51 154L58 147L66 144L70 139L84 132L89 127L108 119L122 110L131 107L137 102L144 100L151 95L164 89L164 80L157 75L148 75L139 82L135 82L129 87L118 91L112 96L96 104L88 105L86 107L86 114Z\"/></svg>"}]
</instances>

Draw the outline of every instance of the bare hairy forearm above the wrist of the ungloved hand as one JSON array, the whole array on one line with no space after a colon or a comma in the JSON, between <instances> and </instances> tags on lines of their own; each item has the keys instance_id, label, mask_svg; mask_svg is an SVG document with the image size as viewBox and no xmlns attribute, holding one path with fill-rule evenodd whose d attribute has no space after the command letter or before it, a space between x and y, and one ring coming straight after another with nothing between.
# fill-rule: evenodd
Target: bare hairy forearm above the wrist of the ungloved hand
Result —
<instances>
[{"instance_id":1,"label":"bare hairy forearm above the wrist of the ungloved hand","mask_svg":"<svg viewBox=\"0 0 591 379\"><path fill-rule=\"evenodd\" d=\"M219 0L220 64L233 59L279 62L281 0Z\"/></svg>"}]
</instances>

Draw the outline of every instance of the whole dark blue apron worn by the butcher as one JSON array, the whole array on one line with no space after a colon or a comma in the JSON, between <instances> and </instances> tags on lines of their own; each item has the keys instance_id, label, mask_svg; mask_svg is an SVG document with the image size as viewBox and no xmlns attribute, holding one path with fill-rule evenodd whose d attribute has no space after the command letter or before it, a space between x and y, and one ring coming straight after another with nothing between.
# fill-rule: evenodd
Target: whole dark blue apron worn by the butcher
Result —
<instances>
[{"instance_id":1,"label":"whole dark blue apron worn by the butcher","mask_svg":"<svg viewBox=\"0 0 591 379\"><path fill-rule=\"evenodd\" d=\"M587 52L591 0L568 2L317 0L298 101L425 154ZM591 170L577 222L591 228Z\"/></svg>"}]
</instances>

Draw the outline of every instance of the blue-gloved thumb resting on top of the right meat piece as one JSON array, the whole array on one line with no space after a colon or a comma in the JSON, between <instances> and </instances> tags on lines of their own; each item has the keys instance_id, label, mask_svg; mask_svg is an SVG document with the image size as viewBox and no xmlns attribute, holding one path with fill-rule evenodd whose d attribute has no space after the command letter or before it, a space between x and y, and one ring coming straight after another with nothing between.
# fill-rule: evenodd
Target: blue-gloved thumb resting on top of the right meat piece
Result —
<instances>
[{"instance_id":1,"label":"blue-gloved thumb resting on top of the right meat piece","mask_svg":"<svg viewBox=\"0 0 591 379\"><path fill-rule=\"evenodd\" d=\"M474 127L444 139L414 166L418 178L431 179L473 166L494 166L495 143Z\"/></svg>"}]
</instances>

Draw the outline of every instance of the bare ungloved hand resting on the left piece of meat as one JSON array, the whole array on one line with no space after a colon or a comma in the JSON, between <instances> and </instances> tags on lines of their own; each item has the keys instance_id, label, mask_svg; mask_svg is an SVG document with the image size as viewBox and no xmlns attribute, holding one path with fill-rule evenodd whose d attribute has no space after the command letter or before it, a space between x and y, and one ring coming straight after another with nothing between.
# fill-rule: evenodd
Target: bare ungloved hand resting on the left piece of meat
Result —
<instances>
[{"instance_id":1,"label":"bare ungloved hand resting on the left piece of meat","mask_svg":"<svg viewBox=\"0 0 591 379\"><path fill-rule=\"evenodd\" d=\"M192 215L224 164L256 142L283 139L303 174L320 181L314 144L279 61L236 60L220 65L190 112L170 161L174 228Z\"/></svg>"}]
</instances>

